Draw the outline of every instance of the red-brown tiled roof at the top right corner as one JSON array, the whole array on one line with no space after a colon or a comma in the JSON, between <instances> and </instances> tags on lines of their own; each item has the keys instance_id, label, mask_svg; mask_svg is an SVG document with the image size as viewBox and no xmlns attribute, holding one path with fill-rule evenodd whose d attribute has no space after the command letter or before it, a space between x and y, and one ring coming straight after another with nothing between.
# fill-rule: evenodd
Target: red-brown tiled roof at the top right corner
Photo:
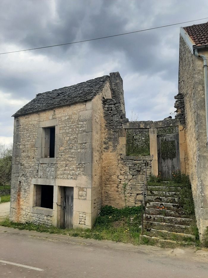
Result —
<instances>
[{"instance_id":1,"label":"red-brown tiled roof at the top right corner","mask_svg":"<svg viewBox=\"0 0 208 278\"><path fill-rule=\"evenodd\" d=\"M183 29L197 46L208 44L208 22L183 27Z\"/></svg>"}]
</instances>

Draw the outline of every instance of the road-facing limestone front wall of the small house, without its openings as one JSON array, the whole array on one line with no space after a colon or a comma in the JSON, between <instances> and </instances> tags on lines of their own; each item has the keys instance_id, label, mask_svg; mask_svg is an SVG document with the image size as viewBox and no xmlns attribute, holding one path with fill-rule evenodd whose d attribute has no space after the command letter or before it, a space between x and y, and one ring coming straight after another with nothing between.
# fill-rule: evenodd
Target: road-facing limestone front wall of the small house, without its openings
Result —
<instances>
[{"instance_id":1,"label":"road-facing limestone front wall of the small house, without its openings","mask_svg":"<svg viewBox=\"0 0 208 278\"><path fill-rule=\"evenodd\" d=\"M59 187L74 187L74 226L86 211L85 226L91 227L92 173L91 101L15 118L12 158L10 219L60 225ZM55 126L55 157L42 157L42 128ZM35 207L35 184L53 185L53 209ZM63 208L62 208L63 209Z\"/></svg>"}]
</instances>

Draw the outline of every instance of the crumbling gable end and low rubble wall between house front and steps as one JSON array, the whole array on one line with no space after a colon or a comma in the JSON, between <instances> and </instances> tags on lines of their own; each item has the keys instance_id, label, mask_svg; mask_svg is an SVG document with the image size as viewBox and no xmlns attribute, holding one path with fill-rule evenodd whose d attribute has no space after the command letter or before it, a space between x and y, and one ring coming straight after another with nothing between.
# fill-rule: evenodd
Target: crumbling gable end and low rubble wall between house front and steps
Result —
<instances>
[{"instance_id":1,"label":"crumbling gable end and low rubble wall between house front and steps","mask_svg":"<svg viewBox=\"0 0 208 278\"><path fill-rule=\"evenodd\" d=\"M145 168L151 173L152 156L126 156L126 134L122 124L129 122L121 105L114 99L103 100L105 128L103 154L103 206L139 206L144 190Z\"/></svg>"}]
</instances>

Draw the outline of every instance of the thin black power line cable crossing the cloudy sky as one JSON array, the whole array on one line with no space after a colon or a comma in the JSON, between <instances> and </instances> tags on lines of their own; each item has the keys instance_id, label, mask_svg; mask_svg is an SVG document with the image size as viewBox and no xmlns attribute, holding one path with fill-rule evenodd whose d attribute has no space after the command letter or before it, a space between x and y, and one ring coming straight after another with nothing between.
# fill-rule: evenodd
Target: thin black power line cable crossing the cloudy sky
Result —
<instances>
[{"instance_id":1,"label":"thin black power line cable crossing the cloudy sky","mask_svg":"<svg viewBox=\"0 0 208 278\"><path fill-rule=\"evenodd\" d=\"M153 30L153 29L159 29L159 28L163 28L163 27L174 26L174 25L178 25L178 24L189 23L189 22L193 22L193 21L199 21L199 20L203 20L203 19L207 19L207 18L208 17L200 18L200 19L195 19L195 20L190 20L190 21L185 21L185 22L180 22L180 23L164 25L164 26L159 26L159 27L153 27L153 28L143 29L143 30L138 30L138 31L133 31L133 32L127 32L127 33L122 33L122 34L117 34L117 35L111 35L111 36L106 36L106 37L89 39L89 40L84 40L84 41L74 41L74 42L66 43L66 44L55 44L55 45L50 45L50 46L42 46L42 47L29 48L29 49L23 49L23 50L17 50L17 51L2 52L2 53L0 53L0 55L2 55L2 54L9 54L9 53L15 53L15 52L22 52L22 51L29 51L29 50L34 50L34 49L42 49L42 48L48 48L48 47L54 47L54 46L61 46L61 45L67 45L67 44L78 44L78 43L83 43L83 42L86 42L86 41L96 41L96 40L101 40L101 39L105 39L105 38L112 38L112 37L117 37L117 36L122 36L122 35L128 35L128 34L133 34L133 33Z\"/></svg>"}]
</instances>

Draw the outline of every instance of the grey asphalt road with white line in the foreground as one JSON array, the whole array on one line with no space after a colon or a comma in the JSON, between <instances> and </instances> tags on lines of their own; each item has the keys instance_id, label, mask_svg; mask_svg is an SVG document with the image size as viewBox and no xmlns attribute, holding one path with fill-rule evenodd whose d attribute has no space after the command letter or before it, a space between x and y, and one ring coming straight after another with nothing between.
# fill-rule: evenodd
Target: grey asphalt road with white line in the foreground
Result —
<instances>
[{"instance_id":1,"label":"grey asphalt road with white line in the foreground","mask_svg":"<svg viewBox=\"0 0 208 278\"><path fill-rule=\"evenodd\" d=\"M208 260L198 257L175 258L117 248L117 243L105 246L101 242L84 244L83 240L76 240L73 243L50 235L46 239L32 233L1 230L0 277L208 277Z\"/></svg>"}]
</instances>

